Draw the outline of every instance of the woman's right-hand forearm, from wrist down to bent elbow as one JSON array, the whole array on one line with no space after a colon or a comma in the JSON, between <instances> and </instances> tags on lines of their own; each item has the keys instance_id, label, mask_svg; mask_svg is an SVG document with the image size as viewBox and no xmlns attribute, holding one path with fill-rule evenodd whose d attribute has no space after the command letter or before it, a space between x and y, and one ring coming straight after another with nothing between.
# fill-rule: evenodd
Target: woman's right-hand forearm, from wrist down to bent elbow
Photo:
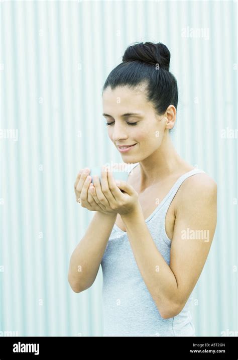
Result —
<instances>
[{"instance_id":1,"label":"woman's right-hand forearm, from wrist down to bent elbow","mask_svg":"<svg viewBox=\"0 0 238 360\"><path fill-rule=\"evenodd\" d=\"M128 238L145 284L160 313L175 309L178 295L176 278L157 249L139 206L122 215Z\"/></svg>"}]
</instances>

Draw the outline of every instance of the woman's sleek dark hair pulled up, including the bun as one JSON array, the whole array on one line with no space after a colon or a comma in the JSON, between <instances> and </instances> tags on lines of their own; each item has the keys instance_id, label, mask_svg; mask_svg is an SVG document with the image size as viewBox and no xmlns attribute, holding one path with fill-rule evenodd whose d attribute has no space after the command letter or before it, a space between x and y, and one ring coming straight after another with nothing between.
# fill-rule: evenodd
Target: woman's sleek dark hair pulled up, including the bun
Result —
<instances>
[{"instance_id":1,"label":"woman's sleek dark hair pulled up, including the bun","mask_svg":"<svg viewBox=\"0 0 238 360\"><path fill-rule=\"evenodd\" d=\"M177 110L177 80L169 71L170 51L162 43L135 43L129 46L123 62L117 65L107 76L103 91L110 86L134 87L146 82L146 97L158 115L165 113L169 105ZM169 130L170 131L170 130Z\"/></svg>"}]
</instances>

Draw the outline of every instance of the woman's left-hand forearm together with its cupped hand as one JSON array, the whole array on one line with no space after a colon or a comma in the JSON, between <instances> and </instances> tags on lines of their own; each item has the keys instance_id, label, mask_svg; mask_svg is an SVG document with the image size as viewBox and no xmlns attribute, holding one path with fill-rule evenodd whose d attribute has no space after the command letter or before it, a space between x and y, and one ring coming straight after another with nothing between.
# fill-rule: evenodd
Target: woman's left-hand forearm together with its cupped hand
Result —
<instances>
[{"instance_id":1,"label":"woman's left-hand forearm together with its cupped hand","mask_svg":"<svg viewBox=\"0 0 238 360\"><path fill-rule=\"evenodd\" d=\"M102 166L101 180L94 176L94 186L91 188L91 176L88 173L81 169L74 184L76 200L80 197L82 207L96 211L70 259L68 281L76 293L88 289L93 284L117 213L125 213L132 206L130 198L127 203L121 201L120 211L117 210L116 199L122 198L122 193L110 171L105 171Z\"/></svg>"}]
</instances>

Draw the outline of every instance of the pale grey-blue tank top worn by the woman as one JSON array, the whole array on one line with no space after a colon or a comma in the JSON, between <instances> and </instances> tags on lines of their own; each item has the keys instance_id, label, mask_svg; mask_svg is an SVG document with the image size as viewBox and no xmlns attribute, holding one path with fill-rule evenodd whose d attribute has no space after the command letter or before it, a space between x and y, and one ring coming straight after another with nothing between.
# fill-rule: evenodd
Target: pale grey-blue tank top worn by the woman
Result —
<instances>
[{"instance_id":1,"label":"pale grey-blue tank top worn by the woman","mask_svg":"<svg viewBox=\"0 0 238 360\"><path fill-rule=\"evenodd\" d=\"M134 168L139 163L133 164ZM145 220L157 249L169 265L171 240L165 216L180 185L193 169L181 175L153 213ZM195 336L189 304L173 318L164 319L150 295L137 266L127 233L114 224L102 261L103 336Z\"/></svg>"}]
</instances>

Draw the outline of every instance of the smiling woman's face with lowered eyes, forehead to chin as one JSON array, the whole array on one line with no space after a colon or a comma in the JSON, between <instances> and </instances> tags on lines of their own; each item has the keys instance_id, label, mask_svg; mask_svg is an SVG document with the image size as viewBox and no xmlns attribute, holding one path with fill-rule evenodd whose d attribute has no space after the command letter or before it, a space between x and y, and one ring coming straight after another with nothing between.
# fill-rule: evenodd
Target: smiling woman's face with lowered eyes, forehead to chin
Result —
<instances>
[{"instance_id":1,"label":"smiling woman's face with lowered eyes, forehead to chin","mask_svg":"<svg viewBox=\"0 0 238 360\"><path fill-rule=\"evenodd\" d=\"M120 151L123 161L142 161L156 151L164 137L168 119L158 116L145 98L144 86L127 86L111 89L102 94L103 116L106 119L108 136L118 146L134 145L127 151ZM171 127L169 127L171 128Z\"/></svg>"}]
</instances>

